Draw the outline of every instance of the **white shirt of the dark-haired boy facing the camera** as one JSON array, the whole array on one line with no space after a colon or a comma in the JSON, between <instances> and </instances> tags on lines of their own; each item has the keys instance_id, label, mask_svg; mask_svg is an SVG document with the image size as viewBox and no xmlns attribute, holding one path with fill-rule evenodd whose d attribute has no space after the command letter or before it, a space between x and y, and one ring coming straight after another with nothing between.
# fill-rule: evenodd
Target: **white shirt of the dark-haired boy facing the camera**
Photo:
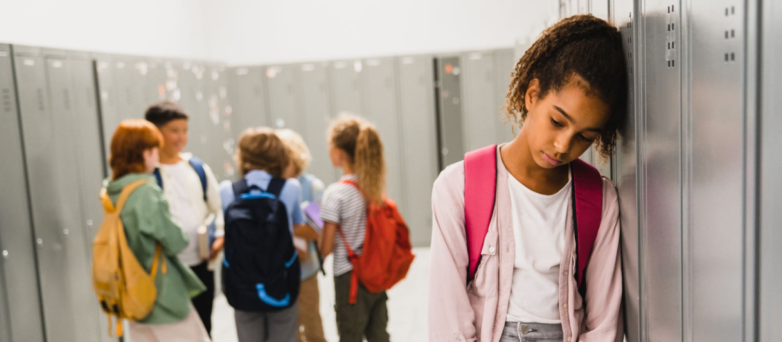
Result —
<instances>
[{"instance_id":1,"label":"white shirt of the dark-haired boy facing the camera","mask_svg":"<svg viewBox=\"0 0 782 342\"><path fill-rule=\"evenodd\" d=\"M186 265L199 265L203 262L198 250L198 227L202 222L195 216L187 184L188 177L192 176L191 173L195 174L195 171L186 160L172 165L160 164L160 168L170 175L170 179L166 181L167 189L165 192L170 194L170 198L167 200L171 216L181 224L182 230L190 238L190 244L179 253L179 259ZM199 200L203 201L201 198Z\"/></svg>"}]
</instances>

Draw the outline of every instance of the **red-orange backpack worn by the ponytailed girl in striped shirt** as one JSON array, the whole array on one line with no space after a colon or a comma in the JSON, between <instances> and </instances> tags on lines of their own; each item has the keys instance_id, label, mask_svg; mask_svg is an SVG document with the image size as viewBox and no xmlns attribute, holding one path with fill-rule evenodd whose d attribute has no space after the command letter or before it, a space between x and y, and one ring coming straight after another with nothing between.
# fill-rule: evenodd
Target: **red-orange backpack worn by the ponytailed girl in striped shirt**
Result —
<instances>
[{"instance_id":1,"label":"red-orange backpack worn by the ponytailed girl in striped shirt","mask_svg":"<svg viewBox=\"0 0 782 342\"><path fill-rule=\"evenodd\" d=\"M361 191L361 187L352 180L341 180L339 183L353 185ZM367 233L364 235L364 251L361 255L356 255L350 248L342 228L339 228L339 236L353 264L349 304L356 303L358 280L369 292L388 290L407 276L407 270L415 258L410 244L410 230L396 210L396 203L386 198L386 195L383 195L382 206L371 201L367 206Z\"/></svg>"}]
</instances>

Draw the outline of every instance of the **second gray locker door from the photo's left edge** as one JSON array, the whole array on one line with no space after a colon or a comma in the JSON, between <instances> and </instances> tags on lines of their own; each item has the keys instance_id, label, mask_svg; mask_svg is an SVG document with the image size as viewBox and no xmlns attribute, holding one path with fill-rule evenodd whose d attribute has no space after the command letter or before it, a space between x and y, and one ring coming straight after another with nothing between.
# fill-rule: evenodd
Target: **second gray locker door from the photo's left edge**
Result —
<instances>
[{"instance_id":1,"label":"second gray locker door from the photo's left edge","mask_svg":"<svg viewBox=\"0 0 782 342\"><path fill-rule=\"evenodd\" d=\"M47 340L96 341L69 65L64 52L15 53Z\"/></svg>"}]
</instances>

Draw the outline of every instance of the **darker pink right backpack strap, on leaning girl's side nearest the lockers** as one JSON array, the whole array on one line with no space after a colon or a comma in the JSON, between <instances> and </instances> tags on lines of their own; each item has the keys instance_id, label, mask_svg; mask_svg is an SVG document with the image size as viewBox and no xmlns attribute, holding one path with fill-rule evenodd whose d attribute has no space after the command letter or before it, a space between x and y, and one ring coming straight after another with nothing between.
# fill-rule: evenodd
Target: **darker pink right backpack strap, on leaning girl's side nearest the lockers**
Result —
<instances>
[{"instance_id":1,"label":"darker pink right backpack strap, on leaning girl's side nearest the lockers","mask_svg":"<svg viewBox=\"0 0 782 342\"><path fill-rule=\"evenodd\" d=\"M576 281L579 288L583 285L583 275L587 268L597 230L603 216L603 178L600 171L581 159L570 163L573 175L573 229L576 233L576 253L578 262Z\"/></svg>"}]
</instances>

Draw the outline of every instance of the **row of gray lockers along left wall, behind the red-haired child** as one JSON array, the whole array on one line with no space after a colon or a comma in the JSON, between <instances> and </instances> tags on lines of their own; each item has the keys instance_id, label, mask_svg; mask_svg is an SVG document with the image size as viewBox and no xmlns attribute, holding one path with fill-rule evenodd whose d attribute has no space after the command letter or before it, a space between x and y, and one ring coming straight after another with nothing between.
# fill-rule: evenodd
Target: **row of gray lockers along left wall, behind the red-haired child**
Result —
<instances>
[{"instance_id":1,"label":"row of gray lockers along left wall, behind the red-haired child","mask_svg":"<svg viewBox=\"0 0 782 342\"><path fill-rule=\"evenodd\" d=\"M90 251L111 136L146 106L178 101L192 116L189 148L228 179L225 84L215 63L0 45L0 341L110 340Z\"/></svg>"}]
</instances>

